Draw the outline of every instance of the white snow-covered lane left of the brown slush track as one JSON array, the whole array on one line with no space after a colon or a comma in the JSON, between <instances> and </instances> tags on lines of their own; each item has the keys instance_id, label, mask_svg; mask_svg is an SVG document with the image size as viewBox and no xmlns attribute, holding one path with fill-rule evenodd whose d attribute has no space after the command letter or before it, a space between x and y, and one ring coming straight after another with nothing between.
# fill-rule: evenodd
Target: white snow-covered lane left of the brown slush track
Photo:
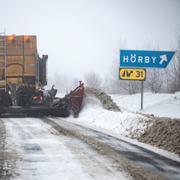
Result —
<instances>
[{"instance_id":1,"label":"white snow-covered lane left of the brown slush track","mask_svg":"<svg viewBox=\"0 0 180 180\"><path fill-rule=\"evenodd\" d=\"M12 158L1 157L0 179L131 179L111 159L40 119L9 118L3 122L4 151Z\"/></svg>"}]
</instances>

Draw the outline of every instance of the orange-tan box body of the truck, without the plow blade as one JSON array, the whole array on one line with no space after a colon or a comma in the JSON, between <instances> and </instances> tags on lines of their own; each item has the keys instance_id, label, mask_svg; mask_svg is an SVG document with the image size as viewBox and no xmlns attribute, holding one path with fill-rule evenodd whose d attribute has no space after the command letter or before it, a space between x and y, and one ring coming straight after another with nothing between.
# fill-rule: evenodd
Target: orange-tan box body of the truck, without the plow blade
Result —
<instances>
[{"instance_id":1,"label":"orange-tan box body of the truck, without the plow blade","mask_svg":"<svg viewBox=\"0 0 180 180\"><path fill-rule=\"evenodd\" d=\"M32 93L47 84L47 58L47 55L39 57L36 36L0 36L2 105L31 103Z\"/></svg>"}]
</instances>

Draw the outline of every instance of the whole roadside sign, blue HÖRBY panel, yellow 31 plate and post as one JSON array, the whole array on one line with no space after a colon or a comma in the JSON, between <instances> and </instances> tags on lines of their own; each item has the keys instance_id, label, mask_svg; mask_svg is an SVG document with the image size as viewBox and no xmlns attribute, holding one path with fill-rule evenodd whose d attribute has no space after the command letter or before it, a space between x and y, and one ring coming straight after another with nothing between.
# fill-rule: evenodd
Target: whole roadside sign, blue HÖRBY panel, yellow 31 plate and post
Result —
<instances>
[{"instance_id":1,"label":"whole roadside sign, blue H\u00d6RBY panel, yellow 31 plate and post","mask_svg":"<svg viewBox=\"0 0 180 180\"><path fill-rule=\"evenodd\" d=\"M174 51L120 50L119 79L141 81L141 110L146 78L146 69L141 68L166 68L174 54Z\"/></svg>"}]
</instances>

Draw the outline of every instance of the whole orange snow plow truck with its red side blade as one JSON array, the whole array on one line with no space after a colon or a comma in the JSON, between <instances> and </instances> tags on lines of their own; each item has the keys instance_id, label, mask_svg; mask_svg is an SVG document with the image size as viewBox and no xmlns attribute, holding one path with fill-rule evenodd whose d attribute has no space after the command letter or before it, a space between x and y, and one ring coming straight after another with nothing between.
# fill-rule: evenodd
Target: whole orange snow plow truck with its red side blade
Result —
<instances>
[{"instance_id":1,"label":"whole orange snow plow truck with its red side blade","mask_svg":"<svg viewBox=\"0 0 180 180\"><path fill-rule=\"evenodd\" d=\"M78 116L84 84L63 98L54 86L45 90L47 59L39 56L34 35L0 36L0 116Z\"/></svg>"}]
</instances>

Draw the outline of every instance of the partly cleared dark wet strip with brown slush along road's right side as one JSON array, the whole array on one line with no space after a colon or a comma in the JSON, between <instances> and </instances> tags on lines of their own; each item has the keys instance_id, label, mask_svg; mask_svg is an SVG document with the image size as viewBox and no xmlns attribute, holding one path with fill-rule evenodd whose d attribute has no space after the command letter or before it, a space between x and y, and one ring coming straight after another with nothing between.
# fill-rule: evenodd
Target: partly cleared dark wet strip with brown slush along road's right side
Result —
<instances>
[{"instance_id":1,"label":"partly cleared dark wet strip with brown slush along road's right side","mask_svg":"<svg viewBox=\"0 0 180 180\"><path fill-rule=\"evenodd\" d=\"M81 125L67 122L62 118L44 119L58 131L65 131L77 136L82 141L95 145L102 154L123 164L123 167L137 179L178 179L180 162L161 156L137 144L119 139ZM59 129L59 127L61 127Z\"/></svg>"}]
</instances>

